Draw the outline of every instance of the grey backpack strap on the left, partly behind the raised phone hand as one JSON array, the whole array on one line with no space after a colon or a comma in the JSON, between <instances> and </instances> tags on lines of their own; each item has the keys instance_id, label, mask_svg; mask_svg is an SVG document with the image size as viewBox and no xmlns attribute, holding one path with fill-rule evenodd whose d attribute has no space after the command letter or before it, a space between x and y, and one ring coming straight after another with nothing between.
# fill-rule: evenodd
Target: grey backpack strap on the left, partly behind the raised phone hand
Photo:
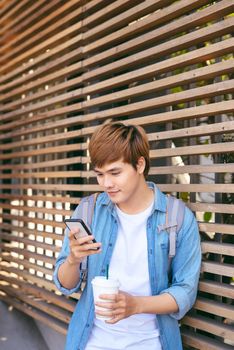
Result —
<instances>
[{"instance_id":1,"label":"grey backpack strap on the left, partly behind the raised phone hand","mask_svg":"<svg viewBox=\"0 0 234 350\"><path fill-rule=\"evenodd\" d=\"M94 208L96 204L98 193L91 194L91 196L85 197L80 202L81 218L87 224L88 228L91 228ZM88 259L85 257L80 263L80 273L82 281L87 279L88 271Z\"/></svg>"}]
</instances>

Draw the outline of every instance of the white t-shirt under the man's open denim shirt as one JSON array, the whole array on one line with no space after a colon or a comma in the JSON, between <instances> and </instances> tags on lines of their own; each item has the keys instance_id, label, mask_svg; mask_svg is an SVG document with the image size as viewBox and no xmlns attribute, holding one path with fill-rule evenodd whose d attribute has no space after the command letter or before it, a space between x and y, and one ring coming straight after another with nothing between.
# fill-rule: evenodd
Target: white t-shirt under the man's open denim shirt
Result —
<instances>
[{"instance_id":1,"label":"white t-shirt under the man's open denim shirt","mask_svg":"<svg viewBox=\"0 0 234 350\"><path fill-rule=\"evenodd\" d=\"M129 215L118 207L119 229L109 275L120 282L120 290L135 296L150 296L146 224L153 203L143 212ZM136 314L107 324L94 319L85 350L161 350L154 314Z\"/></svg>"}]
</instances>

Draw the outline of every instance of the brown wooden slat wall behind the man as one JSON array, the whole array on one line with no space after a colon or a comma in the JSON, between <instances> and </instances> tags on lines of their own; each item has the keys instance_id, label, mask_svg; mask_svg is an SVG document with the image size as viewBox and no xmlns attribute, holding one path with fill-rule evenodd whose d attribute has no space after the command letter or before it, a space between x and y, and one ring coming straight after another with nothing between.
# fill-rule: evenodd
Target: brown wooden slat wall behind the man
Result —
<instances>
[{"instance_id":1,"label":"brown wooden slat wall behind the man","mask_svg":"<svg viewBox=\"0 0 234 350\"><path fill-rule=\"evenodd\" d=\"M75 301L52 281L63 219L99 190L87 142L142 125L149 180L199 221L187 349L231 349L233 44L230 0L0 0L0 298L66 333Z\"/></svg>"}]
</instances>

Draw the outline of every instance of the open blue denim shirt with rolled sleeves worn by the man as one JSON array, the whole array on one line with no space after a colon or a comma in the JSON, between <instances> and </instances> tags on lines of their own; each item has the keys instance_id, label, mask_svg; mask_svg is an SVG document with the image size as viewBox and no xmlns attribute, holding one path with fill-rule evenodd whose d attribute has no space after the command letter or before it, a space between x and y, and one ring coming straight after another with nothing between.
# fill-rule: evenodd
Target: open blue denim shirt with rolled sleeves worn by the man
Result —
<instances>
[{"instance_id":1,"label":"open blue denim shirt with rolled sleeves worn by the man","mask_svg":"<svg viewBox=\"0 0 234 350\"><path fill-rule=\"evenodd\" d=\"M201 249L196 219L186 207L184 222L177 234L176 255L172 260L172 283L168 281L168 244L167 231L157 230L165 223L167 197L153 183L148 186L155 191L154 208L147 220L148 266L152 295L169 293L174 297L179 311L157 317L163 350L182 350L178 320L192 307L197 294ZM73 218L79 217L79 207ZM92 232L97 242L102 242L102 253L89 257L88 277L84 291L76 305L67 333L66 350L85 349L94 321L94 302L91 280L105 276L106 266L110 263L118 232L118 219L115 205L104 192L98 196L92 221ZM73 289L64 288L58 280L59 266L69 254L69 241L65 234L62 250L56 261L54 281L65 295L77 292L81 280ZM137 271L136 271L137 275Z\"/></svg>"}]
</instances>

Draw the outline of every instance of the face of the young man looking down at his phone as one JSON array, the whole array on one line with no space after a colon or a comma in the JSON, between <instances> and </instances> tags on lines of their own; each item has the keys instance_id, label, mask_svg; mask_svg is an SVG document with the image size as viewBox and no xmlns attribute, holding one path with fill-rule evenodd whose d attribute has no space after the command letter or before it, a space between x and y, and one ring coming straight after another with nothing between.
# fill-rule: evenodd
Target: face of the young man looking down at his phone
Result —
<instances>
[{"instance_id":1,"label":"face of the young man looking down at his phone","mask_svg":"<svg viewBox=\"0 0 234 350\"><path fill-rule=\"evenodd\" d=\"M142 181L142 165L137 170L129 163L122 160L106 164L103 167L95 167L98 184L107 192L111 201L120 208L131 204L134 195Z\"/></svg>"}]
</instances>

